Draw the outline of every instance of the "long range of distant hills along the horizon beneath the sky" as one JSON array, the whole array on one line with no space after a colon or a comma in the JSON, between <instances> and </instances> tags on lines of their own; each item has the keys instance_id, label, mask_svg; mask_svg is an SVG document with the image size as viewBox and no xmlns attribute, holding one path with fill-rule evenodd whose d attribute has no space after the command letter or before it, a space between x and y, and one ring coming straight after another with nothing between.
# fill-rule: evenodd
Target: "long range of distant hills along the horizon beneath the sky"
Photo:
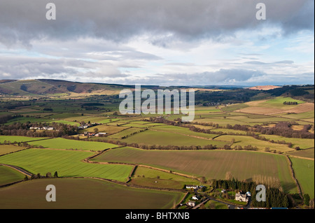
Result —
<instances>
[{"instance_id":1,"label":"long range of distant hills along the horizon beneath the sky","mask_svg":"<svg viewBox=\"0 0 315 223\"><path fill-rule=\"evenodd\" d=\"M187 86L159 87L141 85L141 89L183 89ZM196 89L196 86L193 88ZM116 85L93 82L71 82L66 80L0 80L0 94L13 96L62 96L65 98L91 95L117 95L123 89L134 89L134 85ZM204 89L204 90L202 90ZM208 90L213 89L213 90ZM267 99L274 96L290 96L302 101L314 102L314 85L274 85L256 87L198 86L195 100L200 103L241 103Z\"/></svg>"}]
</instances>

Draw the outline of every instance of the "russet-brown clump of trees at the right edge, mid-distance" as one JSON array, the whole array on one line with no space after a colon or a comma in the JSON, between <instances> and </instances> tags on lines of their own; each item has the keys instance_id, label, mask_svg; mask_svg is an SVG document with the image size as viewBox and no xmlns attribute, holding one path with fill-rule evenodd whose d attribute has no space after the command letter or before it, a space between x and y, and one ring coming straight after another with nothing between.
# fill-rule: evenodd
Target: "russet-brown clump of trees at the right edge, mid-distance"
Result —
<instances>
[{"instance_id":1,"label":"russet-brown clump of trees at the right edge, mid-distance","mask_svg":"<svg viewBox=\"0 0 315 223\"><path fill-rule=\"evenodd\" d=\"M293 123L290 122L279 122L274 127L262 127L256 124L252 130L265 135L277 135L286 138L314 138L314 134L306 130L307 128L311 128L309 125L300 131L291 129L292 125Z\"/></svg>"}]
</instances>

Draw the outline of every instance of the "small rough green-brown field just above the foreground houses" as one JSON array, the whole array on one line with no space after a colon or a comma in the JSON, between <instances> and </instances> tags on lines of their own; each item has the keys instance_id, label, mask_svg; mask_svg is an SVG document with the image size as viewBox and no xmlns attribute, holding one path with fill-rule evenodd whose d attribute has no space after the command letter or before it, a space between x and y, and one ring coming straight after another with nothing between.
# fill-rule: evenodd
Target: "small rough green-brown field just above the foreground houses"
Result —
<instances>
[{"instance_id":1,"label":"small rough green-brown field just above the foreground houses","mask_svg":"<svg viewBox=\"0 0 315 223\"><path fill-rule=\"evenodd\" d=\"M146 187L183 189L185 185L200 185L198 180L183 177L172 173L158 171L152 168L138 166L134 173L132 184Z\"/></svg>"}]
</instances>

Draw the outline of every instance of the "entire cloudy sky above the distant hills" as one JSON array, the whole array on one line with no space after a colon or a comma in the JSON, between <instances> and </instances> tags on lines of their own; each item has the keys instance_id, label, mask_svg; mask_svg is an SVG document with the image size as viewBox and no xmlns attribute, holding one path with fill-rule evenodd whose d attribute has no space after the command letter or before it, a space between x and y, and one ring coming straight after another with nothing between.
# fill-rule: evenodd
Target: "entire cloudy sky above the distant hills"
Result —
<instances>
[{"instance_id":1,"label":"entire cloudy sky above the distant hills","mask_svg":"<svg viewBox=\"0 0 315 223\"><path fill-rule=\"evenodd\" d=\"M0 79L40 78L314 84L314 0L0 0Z\"/></svg>"}]
</instances>

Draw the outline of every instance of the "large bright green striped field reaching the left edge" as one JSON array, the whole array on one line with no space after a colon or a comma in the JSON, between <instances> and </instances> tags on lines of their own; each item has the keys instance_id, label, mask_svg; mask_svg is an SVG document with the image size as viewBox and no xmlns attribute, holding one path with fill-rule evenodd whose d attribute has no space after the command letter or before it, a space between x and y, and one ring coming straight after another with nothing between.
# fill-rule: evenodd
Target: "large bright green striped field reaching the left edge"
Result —
<instances>
[{"instance_id":1,"label":"large bright green striped field reaching the left edge","mask_svg":"<svg viewBox=\"0 0 315 223\"><path fill-rule=\"evenodd\" d=\"M127 165L87 164L82 160L94 152L29 149L0 157L0 163L20 166L41 175L58 172L59 177L99 177L126 181L132 171Z\"/></svg>"}]
</instances>

